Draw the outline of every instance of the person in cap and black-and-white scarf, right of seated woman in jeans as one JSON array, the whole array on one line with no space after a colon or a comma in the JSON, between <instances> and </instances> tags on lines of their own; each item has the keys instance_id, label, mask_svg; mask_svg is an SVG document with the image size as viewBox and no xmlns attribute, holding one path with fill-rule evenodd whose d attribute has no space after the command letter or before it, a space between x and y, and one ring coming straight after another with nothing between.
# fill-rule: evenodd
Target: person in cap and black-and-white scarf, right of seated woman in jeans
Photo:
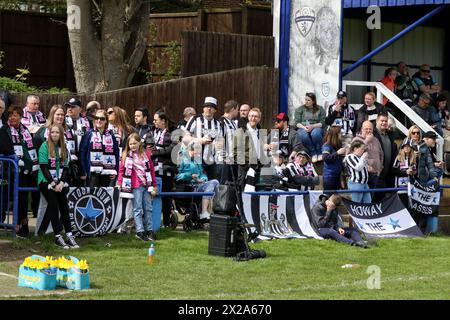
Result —
<instances>
[{"instance_id":1,"label":"person in cap and black-and-white scarf, right of seated woman in jeans","mask_svg":"<svg viewBox=\"0 0 450 320\"><path fill-rule=\"evenodd\" d=\"M347 103L347 93L338 91L336 102L328 108L325 124L341 127L343 146L350 145L356 131L355 109Z\"/></svg>"}]
</instances>

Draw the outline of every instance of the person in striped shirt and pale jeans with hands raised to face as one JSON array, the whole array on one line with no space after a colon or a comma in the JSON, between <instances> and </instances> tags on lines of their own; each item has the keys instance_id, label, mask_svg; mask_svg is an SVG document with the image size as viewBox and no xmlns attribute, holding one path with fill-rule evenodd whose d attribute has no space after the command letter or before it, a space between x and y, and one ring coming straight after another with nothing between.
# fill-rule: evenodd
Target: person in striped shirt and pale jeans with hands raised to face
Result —
<instances>
[{"instance_id":1,"label":"person in striped shirt and pale jeans with hands raised to face","mask_svg":"<svg viewBox=\"0 0 450 320\"><path fill-rule=\"evenodd\" d=\"M350 145L349 154L344 158L344 165L348 172L349 190L369 190L369 166L367 164L368 154L366 145L360 140L353 141ZM352 201L370 203L372 197L370 192L352 193Z\"/></svg>"}]
</instances>

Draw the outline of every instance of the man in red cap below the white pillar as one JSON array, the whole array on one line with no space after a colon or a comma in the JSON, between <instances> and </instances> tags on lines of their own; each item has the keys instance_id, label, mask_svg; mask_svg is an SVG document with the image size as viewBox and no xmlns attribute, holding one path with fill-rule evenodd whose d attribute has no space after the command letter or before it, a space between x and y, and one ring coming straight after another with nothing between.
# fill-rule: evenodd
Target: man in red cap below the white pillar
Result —
<instances>
[{"instance_id":1,"label":"man in red cap below the white pillar","mask_svg":"<svg viewBox=\"0 0 450 320\"><path fill-rule=\"evenodd\" d=\"M271 152L280 151L280 155L285 159L293 159L295 154L303 149L300 136L293 126L289 125L289 116L281 112L275 120L275 130L270 134L271 143L265 148Z\"/></svg>"}]
</instances>

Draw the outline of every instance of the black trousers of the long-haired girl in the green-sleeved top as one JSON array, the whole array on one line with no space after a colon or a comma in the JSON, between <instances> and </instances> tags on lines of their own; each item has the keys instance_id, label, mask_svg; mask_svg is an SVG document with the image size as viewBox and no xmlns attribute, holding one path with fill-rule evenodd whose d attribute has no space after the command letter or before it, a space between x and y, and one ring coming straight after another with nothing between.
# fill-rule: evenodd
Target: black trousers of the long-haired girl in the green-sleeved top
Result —
<instances>
[{"instance_id":1,"label":"black trousers of the long-haired girl in the green-sleeved top","mask_svg":"<svg viewBox=\"0 0 450 320\"><path fill-rule=\"evenodd\" d=\"M69 217L69 205L67 204L67 188L63 188L61 192L55 192L48 189L47 183L39 185L45 200L47 200L47 210L45 210L44 218L38 230L38 234L45 234L48 224L52 224L53 233L61 234L64 226L66 233L72 232ZM61 219L59 216L61 215ZM61 223L62 221L62 223Z\"/></svg>"}]
</instances>

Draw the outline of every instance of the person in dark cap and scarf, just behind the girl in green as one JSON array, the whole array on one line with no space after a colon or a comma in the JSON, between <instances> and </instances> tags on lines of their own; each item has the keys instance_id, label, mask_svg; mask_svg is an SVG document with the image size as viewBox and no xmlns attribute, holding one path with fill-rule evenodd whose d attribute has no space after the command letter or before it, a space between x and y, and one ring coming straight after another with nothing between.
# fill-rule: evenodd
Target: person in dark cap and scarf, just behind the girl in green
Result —
<instances>
[{"instance_id":1,"label":"person in dark cap and scarf, just behind the girl in green","mask_svg":"<svg viewBox=\"0 0 450 320\"><path fill-rule=\"evenodd\" d=\"M90 129L89 120L81 114L81 101L77 98L70 98L64 103L67 108L66 124L72 132L74 140L68 142L68 150L70 152L70 186L83 187L84 180L80 179L81 163L79 160L80 143L83 136Z\"/></svg>"}]
</instances>

